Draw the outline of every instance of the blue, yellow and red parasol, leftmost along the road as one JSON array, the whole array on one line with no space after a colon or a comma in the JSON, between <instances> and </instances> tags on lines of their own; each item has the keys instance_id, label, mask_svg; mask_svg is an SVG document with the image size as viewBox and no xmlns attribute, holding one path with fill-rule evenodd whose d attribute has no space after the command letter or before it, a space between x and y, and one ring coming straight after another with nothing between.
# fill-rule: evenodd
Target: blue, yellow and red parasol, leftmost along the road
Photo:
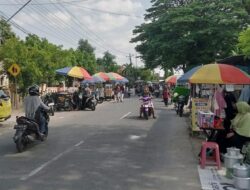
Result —
<instances>
[{"instance_id":1,"label":"blue, yellow and red parasol, leftmost along the road","mask_svg":"<svg viewBox=\"0 0 250 190\"><path fill-rule=\"evenodd\" d=\"M79 78L79 79L92 79L88 71L78 66L64 67L62 69L56 70L56 73L60 75L67 75L67 76Z\"/></svg>"}]
</instances>

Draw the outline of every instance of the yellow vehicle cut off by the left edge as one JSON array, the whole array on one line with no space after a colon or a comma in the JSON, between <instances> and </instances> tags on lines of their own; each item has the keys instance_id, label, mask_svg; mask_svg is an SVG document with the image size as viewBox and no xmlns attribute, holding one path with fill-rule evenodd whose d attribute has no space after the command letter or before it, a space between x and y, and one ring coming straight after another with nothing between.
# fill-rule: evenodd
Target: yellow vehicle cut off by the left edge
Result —
<instances>
[{"instance_id":1,"label":"yellow vehicle cut off by the left edge","mask_svg":"<svg viewBox=\"0 0 250 190\"><path fill-rule=\"evenodd\" d=\"M7 89L0 88L0 122L11 117L11 99Z\"/></svg>"}]
</instances>

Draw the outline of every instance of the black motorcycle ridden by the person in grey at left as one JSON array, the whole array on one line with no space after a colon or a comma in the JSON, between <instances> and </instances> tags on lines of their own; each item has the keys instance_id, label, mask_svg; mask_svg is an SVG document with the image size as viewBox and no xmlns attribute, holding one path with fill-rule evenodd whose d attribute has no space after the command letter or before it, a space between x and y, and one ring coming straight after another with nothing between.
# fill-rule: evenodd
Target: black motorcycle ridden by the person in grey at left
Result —
<instances>
[{"instance_id":1,"label":"black motorcycle ridden by the person in grey at left","mask_svg":"<svg viewBox=\"0 0 250 190\"><path fill-rule=\"evenodd\" d=\"M16 143L16 149L18 152L24 151L28 144L31 144L35 141L44 141L48 137L48 123L50 120L49 114L41 109L42 114L46 118L46 131L44 134L39 132L39 124L32 119L21 116L16 118L16 125L14 129L16 130L13 137L14 142Z\"/></svg>"}]
</instances>

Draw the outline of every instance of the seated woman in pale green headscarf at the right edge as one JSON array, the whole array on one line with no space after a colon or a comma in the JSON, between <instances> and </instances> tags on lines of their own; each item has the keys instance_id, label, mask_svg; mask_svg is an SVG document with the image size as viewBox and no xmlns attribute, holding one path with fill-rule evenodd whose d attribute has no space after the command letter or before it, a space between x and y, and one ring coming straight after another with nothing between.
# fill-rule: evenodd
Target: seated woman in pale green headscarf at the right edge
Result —
<instances>
[{"instance_id":1,"label":"seated woman in pale green headscarf at the right edge","mask_svg":"<svg viewBox=\"0 0 250 190\"><path fill-rule=\"evenodd\" d=\"M238 113L231 121L231 131L225 139L218 142L222 153L225 153L228 147L242 149L243 145L250 141L250 106L246 102L238 102L236 108Z\"/></svg>"}]
</instances>

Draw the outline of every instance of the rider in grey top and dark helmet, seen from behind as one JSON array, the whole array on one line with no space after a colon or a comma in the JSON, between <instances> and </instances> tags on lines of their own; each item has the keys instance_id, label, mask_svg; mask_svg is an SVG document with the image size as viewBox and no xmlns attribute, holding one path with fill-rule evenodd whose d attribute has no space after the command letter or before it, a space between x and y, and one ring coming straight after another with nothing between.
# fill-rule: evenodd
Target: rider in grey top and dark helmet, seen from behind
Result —
<instances>
[{"instance_id":1,"label":"rider in grey top and dark helmet, seen from behind","mask_svg":"<svg viewBox=\"0 0 250 190\"><path fill-rule=\"evenodd\" d=\"M25 117L35 120L39 124L38 135L42 139L46 132L47 121L43 116L41 109L49 111L50 108L46 106L39 97L39 86L33 85L28 89L29 95L24 99Z\"/></svg>"}]
</instances>

